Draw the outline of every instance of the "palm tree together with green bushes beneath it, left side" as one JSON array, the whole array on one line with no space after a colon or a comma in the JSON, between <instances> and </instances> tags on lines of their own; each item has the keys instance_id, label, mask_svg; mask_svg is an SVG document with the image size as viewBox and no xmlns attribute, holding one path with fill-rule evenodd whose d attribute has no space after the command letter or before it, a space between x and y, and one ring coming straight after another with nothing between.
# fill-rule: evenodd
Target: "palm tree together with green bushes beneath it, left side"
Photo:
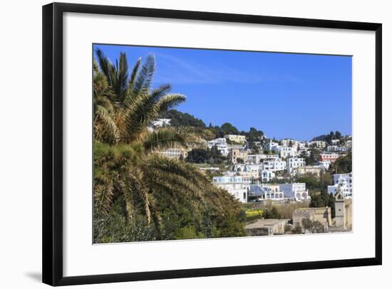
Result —
<instances>
[{"instance_id":1,"label":"palm tree together with green bushes beneath it, left side","mask_svg":"<svg viewBox=\"0 0 392 289\"><path fill-rule=\"evenodd\" d=\"M155 58L128 75L125 53L94 62L94 242L244 236L239 201L193 164L163 157L205 144L210 132L179 126L148 130L185 96L151 88Z\"/></svg>"}]
</instances>

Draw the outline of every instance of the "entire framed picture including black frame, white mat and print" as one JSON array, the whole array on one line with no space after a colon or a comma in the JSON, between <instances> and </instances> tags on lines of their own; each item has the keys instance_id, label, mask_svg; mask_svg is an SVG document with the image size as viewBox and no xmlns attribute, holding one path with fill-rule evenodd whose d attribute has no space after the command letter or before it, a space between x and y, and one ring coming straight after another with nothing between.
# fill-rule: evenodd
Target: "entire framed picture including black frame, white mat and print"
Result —
<instances>
[{"instance_id":1,"label":"entire framed picture including black frame, white mat and print","mask_svg":"<svg viewBox=\"0 0 392 289\"><path fill-rule=\"evenodd\" d=\"M43 6L43 283L381 265L381 37Z\"/></svg>"}]
</instances>

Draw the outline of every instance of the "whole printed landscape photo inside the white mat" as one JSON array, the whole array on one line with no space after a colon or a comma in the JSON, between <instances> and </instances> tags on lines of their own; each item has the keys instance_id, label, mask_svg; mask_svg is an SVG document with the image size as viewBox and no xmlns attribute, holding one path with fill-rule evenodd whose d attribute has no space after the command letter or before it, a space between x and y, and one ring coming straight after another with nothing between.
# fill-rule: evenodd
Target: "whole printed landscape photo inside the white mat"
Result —
<instances>
[{"instance_id":1,"label":"whole printed landscape photo inside the white mat","mask_svg":"<svg viewBox=\"0 0 392 289\"><path fill-rule=\"evenodd\" d=\"M93 44L93 243L350 232L351 56Z\"/></svg>"}]
</instances>

